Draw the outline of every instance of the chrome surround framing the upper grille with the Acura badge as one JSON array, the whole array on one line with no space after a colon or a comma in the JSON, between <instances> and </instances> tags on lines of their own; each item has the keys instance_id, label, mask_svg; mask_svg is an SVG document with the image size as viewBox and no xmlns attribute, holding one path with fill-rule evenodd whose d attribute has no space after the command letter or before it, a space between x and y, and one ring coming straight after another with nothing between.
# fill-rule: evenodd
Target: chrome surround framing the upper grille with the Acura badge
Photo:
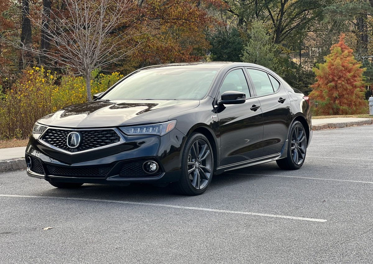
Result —
<instances>
[{"instance_id":1,"label":"chrome surround framing the upper grille with the Acura badge","mask_svg":"<svg viewBox=\"0 0 373 264\"><path fill-rule=\"evenodd\" d=\"M44 134L48 131L48 129L61 129L61 130L73 130L73 131L112 129L112 130L114 130L117 133L117 135L119 136L120 139L119 139L119 142L116 142L116 143L113 143L113 144L109 144L109 145L106 145L106 146L101 146L101 147L97 147L97 148L91 148L90 150L82 150L82 151L70 152L70 151L67 151L67 150L63 150L61 148L54 147L53 145L51 145L51 144L49 144L49 143L47 143L47 142L45 142L44 140L41 139L41 138L43 138ZM66 153L66 154L69 154L69 155L87 153L87 152L95 151L95 150L102 150L103 148L113 147L113 146L116 146L116 145L119 145L119 144L122 144L122 143L126 142L126 140L124 139L122 133L117 128L58 128L58 127L55 127L55 126L47 126L47 129L39 136L38 141L41 144L43 144L43 145L45 145L45 146L47 146L49 148L52 148L54 150L57 150L57 151L60 151L62 153Z\"/></svg>"}]
</instances>

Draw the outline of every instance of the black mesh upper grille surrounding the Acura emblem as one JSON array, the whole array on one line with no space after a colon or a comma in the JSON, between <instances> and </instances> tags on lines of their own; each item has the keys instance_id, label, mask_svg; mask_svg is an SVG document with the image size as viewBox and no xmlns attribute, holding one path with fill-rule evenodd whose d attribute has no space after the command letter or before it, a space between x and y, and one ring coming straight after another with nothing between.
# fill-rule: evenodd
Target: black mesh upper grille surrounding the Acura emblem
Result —
<instances>
[{"instance_id":1,"label":"black mesh upper grille surrounding the Acura emblem","mask_svg":"<svg viewBox=\"0 0 373 264\"><path fill-rule=\"evenodd\" d=\"M67 144L70 132L81 133L81 143L77 148L69 148ZM117 143L120 141L120 136L113 129L67 130L48 128L42 140L56 148L73 153Z\"/></svg>"}]
</instances>

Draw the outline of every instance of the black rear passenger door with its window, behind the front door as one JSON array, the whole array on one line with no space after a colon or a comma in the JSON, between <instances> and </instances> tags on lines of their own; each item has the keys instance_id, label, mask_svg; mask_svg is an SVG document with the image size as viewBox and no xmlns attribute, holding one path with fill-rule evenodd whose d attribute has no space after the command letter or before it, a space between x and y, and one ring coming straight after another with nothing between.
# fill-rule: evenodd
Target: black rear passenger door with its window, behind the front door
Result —
<instances>
[{"instance_id":1,"label":"black rear passenger door with its window, behind the front door","mask_svg":"<svg viewBox=\"0 0 373 264\"><path fill-rule=\"evenodd\" d=\"M270 73L257 68L246 68L246 71L263 113L264 155L280 153L291 121L289 96Z\"/></svg>"}]
</instances>

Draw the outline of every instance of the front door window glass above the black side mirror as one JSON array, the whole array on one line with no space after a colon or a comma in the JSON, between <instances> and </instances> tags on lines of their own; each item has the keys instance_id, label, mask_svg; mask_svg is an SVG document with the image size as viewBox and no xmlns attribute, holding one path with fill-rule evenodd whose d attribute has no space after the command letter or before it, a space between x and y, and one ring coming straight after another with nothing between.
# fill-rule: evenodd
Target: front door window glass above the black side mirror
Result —
<instances>
[{"instance_id":1,"label":"front door window glass above the black side mirror","mask_svg":"<svg viewBox=\"0 0 373 264\"><path fill-rule=\"evenodd\" d=\"M220 94L226 91L244 92L246 98L250 97L249 87L247 86L246 78L242 69L232 70L225 76L222 86L220 87Z\"/></svg>"}]
</instances>

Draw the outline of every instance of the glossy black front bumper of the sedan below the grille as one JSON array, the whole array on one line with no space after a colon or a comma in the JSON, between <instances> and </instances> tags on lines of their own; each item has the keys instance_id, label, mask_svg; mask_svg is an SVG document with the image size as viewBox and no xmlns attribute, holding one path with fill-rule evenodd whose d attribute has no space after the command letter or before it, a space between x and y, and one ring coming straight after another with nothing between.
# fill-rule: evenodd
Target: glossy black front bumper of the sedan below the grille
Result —
<instances>
[{"instance_id":1,"label":"glossy black front bumper of the sedan below the grille","mask_svg":"<svg viewBox=\"0 0 373 264\"><path fill-rule=\"evenodd\" d=\"M181 172L181 148L185 135L177 129L160 137L127 136L112 147L79 154L68 154L41 144L30 136L25 158L32 159L27 174L60 182L120 184L120 182L175 182ZM147 160L156 161L159 172L142 170Z\"/></svg>"}]
</instances>

